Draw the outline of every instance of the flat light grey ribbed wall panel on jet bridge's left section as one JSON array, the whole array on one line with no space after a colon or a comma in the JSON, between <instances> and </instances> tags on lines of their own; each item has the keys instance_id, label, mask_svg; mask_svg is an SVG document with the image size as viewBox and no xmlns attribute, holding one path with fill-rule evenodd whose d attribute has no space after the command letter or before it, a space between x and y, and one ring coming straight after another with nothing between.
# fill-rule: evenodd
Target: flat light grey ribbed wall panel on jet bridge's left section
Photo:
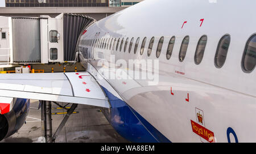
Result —
<instances>
[{"instance_id":1,"label":"flat light grey ribbed wall panel on jet bridge's left section","mask_svg":"<svg viewBox=\"0 0 256 154\"><path fill-rule=\"evenodd\" d=\"M40 62L40 20L13 18L14 62Z\"/></svg>"}]
</instances>

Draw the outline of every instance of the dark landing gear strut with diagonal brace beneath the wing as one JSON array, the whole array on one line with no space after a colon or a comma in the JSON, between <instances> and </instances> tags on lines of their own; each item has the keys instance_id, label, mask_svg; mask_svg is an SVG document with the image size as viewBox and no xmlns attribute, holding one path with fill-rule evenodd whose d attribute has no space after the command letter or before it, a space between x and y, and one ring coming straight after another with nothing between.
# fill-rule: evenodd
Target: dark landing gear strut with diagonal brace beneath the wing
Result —
<instances>
[{"instance_id":1,"label":"dark landing gear strut with diagonal brace beneath the wing","mask_svg":"<svg viewBox=\"0 0 256 154\"><path fill-rule=\"evenodd\" d=\"M40 101L40 104L42 106L41 108L41 113L42 113L42 132L44 137L46 138L46 143L52 143L55 142L57 136L59 135L60 131L63 129L65 126L65 123L68 121L69 116L74 112L74 110L77 108L77 104L72 104L70 109L65 108L65 106L61 106L57 102L53 102L56 105L60 106L63 109L67 110L67 114L61 121L59 127L57 128L56 132L54 135L52 135L52 108L51 108L51 101Z\"/></svg>"}]
</instances>

